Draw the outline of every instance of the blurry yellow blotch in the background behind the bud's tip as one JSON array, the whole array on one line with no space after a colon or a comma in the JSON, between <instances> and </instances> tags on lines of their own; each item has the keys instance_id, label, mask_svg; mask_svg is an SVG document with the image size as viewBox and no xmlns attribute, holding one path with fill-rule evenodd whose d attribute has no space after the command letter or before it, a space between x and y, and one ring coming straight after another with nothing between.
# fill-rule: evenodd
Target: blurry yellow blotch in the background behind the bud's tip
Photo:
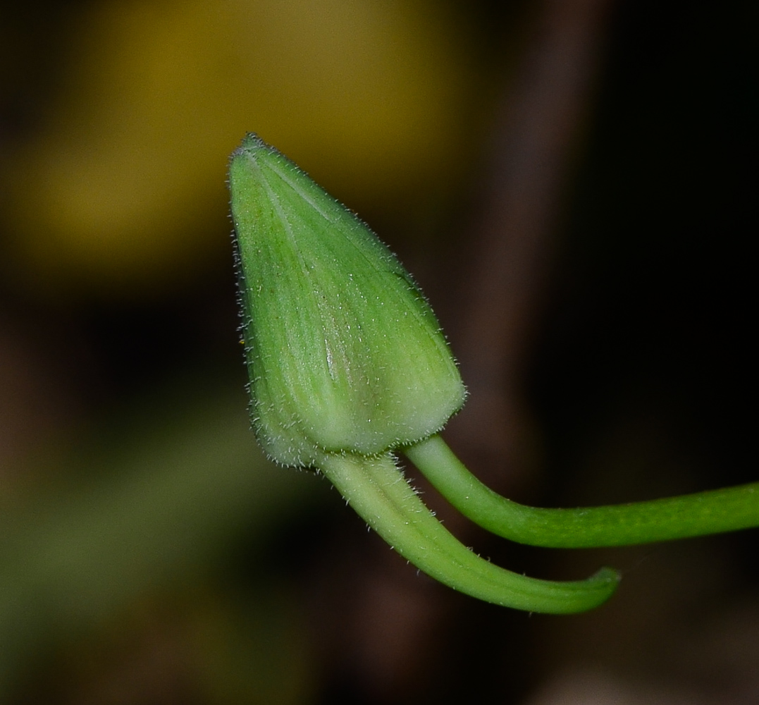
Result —
<instances>
[{"instance_id":1,"label":"blurry yellow blotch in the background behind the bud's tip","mask_svg":"<svg viewBox=\"0 0 759 705\"><path fill-rule=\"evenodd\" d=\"M465 75L452 23L422 9L400 0L94 8L71 40L49 130L2 174L20 268L52 284L169 285L225 236L213 225L228 153L246 131L363 202L439 177L455 152Z\"/></svg>"}]
</instances>

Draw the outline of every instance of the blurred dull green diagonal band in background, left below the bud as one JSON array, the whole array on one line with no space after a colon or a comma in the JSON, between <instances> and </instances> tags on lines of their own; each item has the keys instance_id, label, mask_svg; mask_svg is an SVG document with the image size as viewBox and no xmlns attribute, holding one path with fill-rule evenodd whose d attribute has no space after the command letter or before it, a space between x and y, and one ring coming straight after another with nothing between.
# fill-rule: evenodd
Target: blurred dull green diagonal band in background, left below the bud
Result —
<instances>
[{"instance_id":1,"label":"blurred dull green diagonal band in background, left below the bud","mask_svg":"<svg viewBox=\"0 0 759 705\"><path fill-rule=\"evenodd\" d=\"M3 513L0 693L39 644L75 643L142 595L192 593L223 572L238 537L263 544L323 500L324 486L263 458L243 395L165 392L159 404L165 408L132 423L112 420L117 425L91 440L80 438L78 452L57 454L62 477L54 486ZM104 437L112 439L105 447ZM241 615L256 613L255 600L247 600ZM265 612L269 617L257 618L266 622L281 609ZM250 648L263 651L268 664L250 666L250 678L268 684L262 693L294 685L290 675L270 670L272 659L285 668L283 659L292 672L288 649L278 656L276 639ZM263 694L250 701L267 702Z\"/></svg>"}]
</instances>

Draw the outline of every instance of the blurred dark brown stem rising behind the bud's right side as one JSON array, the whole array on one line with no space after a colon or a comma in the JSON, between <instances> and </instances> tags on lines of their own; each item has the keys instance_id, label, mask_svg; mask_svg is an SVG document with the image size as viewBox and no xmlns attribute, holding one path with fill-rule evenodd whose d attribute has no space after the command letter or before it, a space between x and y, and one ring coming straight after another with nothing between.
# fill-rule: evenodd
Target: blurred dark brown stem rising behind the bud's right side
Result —
<instances>
[{"instance_id":1,"label":"blurred dark brown stem rising behind the bud's right side","mask_svg":"<svg viewBox=\"0 0 759 705\"><path fill-rule=\"evenodd\" d=\"M471 396L451 424L477 467L519 471L520 379L551 264L562 185L581 131L610 0L547 0L502 99L455 350ZM483 462L484 461L484 462Z\"/></svg>"}]
</instances>

